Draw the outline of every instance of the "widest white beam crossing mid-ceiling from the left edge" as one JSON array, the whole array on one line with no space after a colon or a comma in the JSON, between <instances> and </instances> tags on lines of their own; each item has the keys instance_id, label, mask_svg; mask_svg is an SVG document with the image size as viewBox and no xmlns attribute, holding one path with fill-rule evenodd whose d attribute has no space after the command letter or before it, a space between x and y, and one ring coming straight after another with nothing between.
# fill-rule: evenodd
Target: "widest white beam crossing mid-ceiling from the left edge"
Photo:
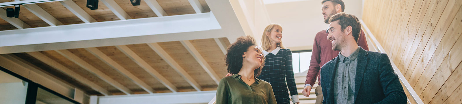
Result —
<instances>
[{"instance_id":1,"label":"widest white beam crossing mid-ceiling from the left edge","mask_svg":"<svg viewBox=\"0 0 462 104\"><path fill-rule=\"evenodd\" d=\"M213 14L210 12L168 17L137 18L120 21L96 22L89 24L72 24L53 27L49 26L41 28L30 28L25 30L21 29L22 31L0 31L0 47L43 43L75 42L84 40L111 39L136 36L170 36L170 39L168 40L176 39L171 38L172 36L174 36L172 35L172 33L182 36L178 38L224 37L223 35L216 34L216 32L209 32L208 34L197 34L201 35L201 37L197 37L197 35L193 33L188 33L217 30L220 28L220 25L218 24L216 19L213 18ZM158 40L157 38L144 39ZM139 40L143 39L135 40L135 42L138 42ZM116 43L120 43L120 41ZM101 40L97 40L96 43L91 44L102 44L102 42ZM60 46L61 45L63 44L60 43ZM73 47L76 44L68 45L69 47ZM0 49L0 51L9 50Z\"/></svg>"}]
</instances>

